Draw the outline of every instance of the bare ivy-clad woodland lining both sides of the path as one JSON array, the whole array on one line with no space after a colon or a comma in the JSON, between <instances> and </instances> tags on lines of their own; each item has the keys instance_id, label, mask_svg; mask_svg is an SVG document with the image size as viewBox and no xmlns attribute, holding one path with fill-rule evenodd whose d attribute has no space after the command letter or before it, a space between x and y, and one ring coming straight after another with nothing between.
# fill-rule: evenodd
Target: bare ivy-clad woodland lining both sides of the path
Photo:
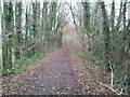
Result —
<instances>
[{"instance_id":1,"label":"bare ivy-clad woodland lining both sides of the path","mask_svg":"<svg viewBox=\"0 0 130 97\"><path fill-rule=\"evenodd\" d=\"M66 9L67 8L67 9ZM130 2L1 2L2 72L12 74L20 61L63 45L63 29L72 20L79 56L110 75L105 85L117 95L130 88ZM72 17L68 17L70 15ZM18 67L18 68L16 68ZM116 86L116 88L115 88Z\"/></svg>"}]
</instances>

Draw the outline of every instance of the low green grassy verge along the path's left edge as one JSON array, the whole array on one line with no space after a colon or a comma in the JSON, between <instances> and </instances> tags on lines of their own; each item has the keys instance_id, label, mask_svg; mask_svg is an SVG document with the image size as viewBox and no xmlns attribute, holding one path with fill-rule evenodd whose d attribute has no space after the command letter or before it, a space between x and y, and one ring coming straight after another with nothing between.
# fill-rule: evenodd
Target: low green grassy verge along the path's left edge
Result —
<instances>
[{"instance_id":1,"label":"low green grassy verge along the path's left edge","mask_svg":"<svg viewBox=\"0 0 130 97\"><path fill-rule=\"evenodd\" d=\"M54 47L54 48L48 50L42 55L35 54L31 58L23 58L18 61L18 64L14 65L11 69L4 69L2 71L2 75L16 74L16 73L26 71L27 67L36 65L39 60L43 59L44 56L57 50L58 50L57 47Z\"/></svg>"}]
</instances>

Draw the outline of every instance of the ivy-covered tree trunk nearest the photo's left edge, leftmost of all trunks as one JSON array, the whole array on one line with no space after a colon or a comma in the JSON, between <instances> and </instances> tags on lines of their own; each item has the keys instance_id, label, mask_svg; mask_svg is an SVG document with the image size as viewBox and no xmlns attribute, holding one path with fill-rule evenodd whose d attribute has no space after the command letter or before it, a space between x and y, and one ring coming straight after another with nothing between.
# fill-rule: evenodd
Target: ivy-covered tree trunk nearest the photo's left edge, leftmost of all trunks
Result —
<instances>
[{"instance_id":1,"label":"ivy-covered tree trunk nearest the photo's left edge, leftmost of all trunks","mask_svg":"<svg viewBox=\"0 0 130 97\"><path fill-rule=\"evenodd\" d=\"M3 22L2 22L2 64L5 68L12 67L12 34L8 36L13 31L13 5L12 2L3 2Z\"/></svg>"}]
</instances>

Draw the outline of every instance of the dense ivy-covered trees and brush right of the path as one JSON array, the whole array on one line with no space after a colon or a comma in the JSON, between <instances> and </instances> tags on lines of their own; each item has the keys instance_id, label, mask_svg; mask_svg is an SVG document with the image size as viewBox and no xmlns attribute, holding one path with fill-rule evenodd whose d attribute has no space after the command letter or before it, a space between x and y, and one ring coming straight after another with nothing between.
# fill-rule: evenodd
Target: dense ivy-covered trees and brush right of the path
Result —
<instances>
[{"instance_id":1,"label":"dense ivy-covered trees and brush right of the path","mask_svg":"<svg viewBox=\"0 0 130 97\"><path fill-rule=\"evenodd\" d=\"M80 38L84 59L88 58L86 57L88 52L91 52L90 59L100 65L106 73L110 72L109 86L99 83L118 95L122 94L123 88L129 88L130 84L128 83L130 82L129 4L128 1L121 1L118 5L116 0L112 0L110 4L96 2L93 6L89 2L82 2L81 24L83 31L81 31ZM117 6L118 9L116 9Z\"/></svg>"}]
</instances>

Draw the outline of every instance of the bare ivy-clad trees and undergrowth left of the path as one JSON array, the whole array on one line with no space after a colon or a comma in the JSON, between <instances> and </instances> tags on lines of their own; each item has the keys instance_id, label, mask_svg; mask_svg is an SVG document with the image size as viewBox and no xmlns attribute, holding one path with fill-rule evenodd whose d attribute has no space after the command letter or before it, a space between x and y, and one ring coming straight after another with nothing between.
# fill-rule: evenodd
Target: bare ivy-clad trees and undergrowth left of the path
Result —
<instances>
[{"instance_id":1,"label":"bare ivy-clad trees and undergrowth left of the path","mask_svg":"<svg viewBox=\"0 0 130 97\"><path fill-rule=\"evenodd\" d=\"M2 65L13 68L23 58L62 46L65 16L57 2L2 2ZM25 8L24 8L25 6Z\"/></svg>"}]
</instances>

